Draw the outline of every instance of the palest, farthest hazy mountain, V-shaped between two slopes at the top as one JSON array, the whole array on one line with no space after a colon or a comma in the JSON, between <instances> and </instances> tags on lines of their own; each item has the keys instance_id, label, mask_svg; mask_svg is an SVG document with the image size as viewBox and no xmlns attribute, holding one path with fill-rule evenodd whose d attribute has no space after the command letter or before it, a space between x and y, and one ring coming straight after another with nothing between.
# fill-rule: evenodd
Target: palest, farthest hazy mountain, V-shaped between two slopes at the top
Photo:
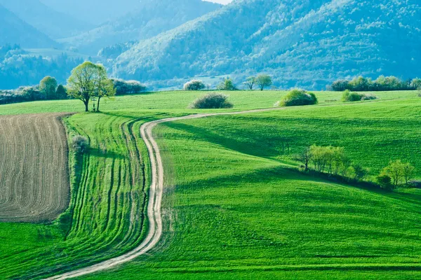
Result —
<instances>
[{"instance_id":1,"label":"palest, farthest hazy mountain, V-shaped between two slopes at the top","mask_svg":"<svg viewBox=\"0 0 421 280\"><path fill-rule=\"evenodd\" d=\"M143 0L41 0L41 2L74 18L99 26L142 6Z\"/></svg>"}]
</instances>

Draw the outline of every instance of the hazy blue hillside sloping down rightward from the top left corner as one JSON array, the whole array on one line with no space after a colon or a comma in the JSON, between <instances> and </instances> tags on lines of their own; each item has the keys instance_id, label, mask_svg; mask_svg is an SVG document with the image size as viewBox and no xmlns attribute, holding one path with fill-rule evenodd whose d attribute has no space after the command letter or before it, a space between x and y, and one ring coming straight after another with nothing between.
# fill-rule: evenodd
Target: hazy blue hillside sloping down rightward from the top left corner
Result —
<instances>
[{"instance_id":1,"label":"hazy blue hillside sloping down rightward from the top left corner","mask_svg":"<svg viewBox=\"0 0 421 280\"><path fill-rule=\"evenodd\" d=\"M93 27L70 15L57 12L39 0L0 0L0 4L51 38L72 36Z\"/></svg>"}]
</instances>

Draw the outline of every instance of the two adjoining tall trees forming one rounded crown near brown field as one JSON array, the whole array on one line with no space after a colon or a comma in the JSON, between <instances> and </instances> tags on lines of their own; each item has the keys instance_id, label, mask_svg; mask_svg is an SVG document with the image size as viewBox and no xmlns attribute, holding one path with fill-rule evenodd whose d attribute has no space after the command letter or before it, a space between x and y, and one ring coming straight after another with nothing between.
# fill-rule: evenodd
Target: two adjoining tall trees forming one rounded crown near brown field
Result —
<instances>
[{"instance_id":1,"label":"two adjoining tall trees forming one rounded crown near brown field","mask_svg":"<svg viewBox=\"0 0 421 280\"><path fill-rule=\"evenodd\" d=\"M112 85L112 87L111 87ZM107 71L102 64L83 62L72 70L67 80L67 94L81 100L85 104L85 111L89 111L89 101L98 97L98 108L101 97L114 96L114 84L107 78Z\"/></svg>"}]
</instances>

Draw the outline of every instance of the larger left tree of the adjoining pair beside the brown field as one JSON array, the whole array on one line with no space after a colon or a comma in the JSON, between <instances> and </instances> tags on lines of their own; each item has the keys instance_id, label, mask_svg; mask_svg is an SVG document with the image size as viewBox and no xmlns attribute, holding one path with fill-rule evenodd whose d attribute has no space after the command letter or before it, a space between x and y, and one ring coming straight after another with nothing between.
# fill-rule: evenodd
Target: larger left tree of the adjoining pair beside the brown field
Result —
<instances>
[{"instance_id":1,"label":"larger left tree of the adjoining pair beside the brown field","mask_svg":"<svg viewBox=\"0 0 421 280\"><path fill-rule=\"evenodd\" d=\"M95 81L98 70L92 62L83 62L72 70L67 80L67 88L70 97L81 100L85 104L85 111L89 111L89 100L95 92Z\"/></svg>"}]
</instances>

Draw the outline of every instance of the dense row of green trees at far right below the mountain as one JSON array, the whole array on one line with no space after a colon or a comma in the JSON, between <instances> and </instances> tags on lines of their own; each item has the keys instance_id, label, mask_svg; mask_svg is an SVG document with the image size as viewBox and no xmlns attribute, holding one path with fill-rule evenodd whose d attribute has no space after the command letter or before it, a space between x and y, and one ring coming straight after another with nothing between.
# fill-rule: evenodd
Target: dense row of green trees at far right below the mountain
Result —
<instances>
[{"instance_id":1,"label":"dense row of green trees at far right below the mountain","mask_svg":"<svg viewBox=\"0 0 421 280\"><path fill-rule=\"evenodd\" d=\"M353 80L336 80L328 90L342 92L352 90L358 92L376 92L388 90L419 90L421 89L421 78L410 80L401 80L395 76L380 76L376 80L359 76Z\"/></svg>"}]
</instances>

